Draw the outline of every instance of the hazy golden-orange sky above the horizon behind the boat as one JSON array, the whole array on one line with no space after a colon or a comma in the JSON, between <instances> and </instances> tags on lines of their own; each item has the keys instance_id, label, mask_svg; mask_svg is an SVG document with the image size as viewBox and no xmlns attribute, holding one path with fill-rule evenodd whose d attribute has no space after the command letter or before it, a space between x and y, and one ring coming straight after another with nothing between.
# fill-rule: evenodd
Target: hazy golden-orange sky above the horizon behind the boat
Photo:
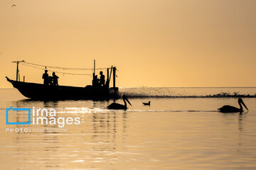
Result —
<instances>
[{"instance_id":1,"label":"hazy golden-orange sky above the horizon behind the boat","mask_svg":"<svg viewBox=\"0 0 256 170\"><path fill-rule=\"evenodd\" d=\"M256 86L254 0L1 0L0 23L0 88L12 87L15 60L92 68L94 59L117 67L119 87ZM20 74L43 83L43 70Z\"/></svg>"}]
</instances>

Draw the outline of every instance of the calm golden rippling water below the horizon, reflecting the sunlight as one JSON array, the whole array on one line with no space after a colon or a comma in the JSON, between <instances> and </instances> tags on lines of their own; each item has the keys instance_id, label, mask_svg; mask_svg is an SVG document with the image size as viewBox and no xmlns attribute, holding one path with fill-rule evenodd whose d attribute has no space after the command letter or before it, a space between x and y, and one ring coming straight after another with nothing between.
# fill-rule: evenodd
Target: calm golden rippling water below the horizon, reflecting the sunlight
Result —
<instances>
[{"instance_id":1,"label":"calm golden rippling water below the horizon, reflecting the sunlight","mask_svg":"<svg viewBox=\"0 0 256 170\"><path fill-rule=\"evenodd\" d=\"M15 89L0 89L0 101L0 169L256 169L256 98L244 98L250 111L243 114L216 111L238 106L237 98L131 98L127 111L108 111L112 101L29 101ZM55 108L57 118L81 123L6 125L10 106Z\"/></svg>"}]
</instances>

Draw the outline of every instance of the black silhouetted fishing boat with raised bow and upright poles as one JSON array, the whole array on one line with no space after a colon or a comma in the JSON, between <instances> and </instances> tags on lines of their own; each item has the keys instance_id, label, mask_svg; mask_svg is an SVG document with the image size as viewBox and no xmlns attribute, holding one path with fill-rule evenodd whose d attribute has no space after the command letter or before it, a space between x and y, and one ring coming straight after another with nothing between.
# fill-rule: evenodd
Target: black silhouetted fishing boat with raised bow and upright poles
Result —
<instances>
[{"instance_id":1,"label":"black silhouetted fishing boat with raised bow and upright poles","mask_svg":"<svg viewBox=\"0 0 256 170\"><path fill-rule=\"evenodd\" d=\"M23 61L21 61L23 62ZM111 72L113 71L113 87L109 87ZM85 87L76 86L54 86L46 84L29 83L18 80L18 62L16 81L6 77L14 88L26 96L36 100L63 100L63 99L92 99L92 100L107 100L110 98L119 98L118 88L115 86L115 72L116 68L112 67L109 75L107 69L107 81L104 86L95 85L97 76L95 76L95 69L93 73L92 85Z\"/></svg>"}]
</instances>

